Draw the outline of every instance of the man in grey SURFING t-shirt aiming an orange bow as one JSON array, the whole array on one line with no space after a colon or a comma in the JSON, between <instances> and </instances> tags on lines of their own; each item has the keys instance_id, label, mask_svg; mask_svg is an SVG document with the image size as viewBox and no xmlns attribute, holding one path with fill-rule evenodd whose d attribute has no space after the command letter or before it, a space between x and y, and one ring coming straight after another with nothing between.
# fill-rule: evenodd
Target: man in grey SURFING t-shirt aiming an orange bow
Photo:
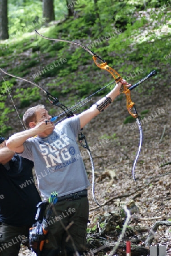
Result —
<instances>
[{"instance_id":1,"label":"man in grey SURFING t-shirt aiming an orange bow","mask_svg":"<svg viewBox=\"0 0 171 256\"><path fill-rule=\"evenodd\" d=\"M43 256L59 255L60 250L67 256L74 255L75 251L84 254L89 216L89 180L76 138L81 128L120 94L122 84L130 86L126 81L120 81L90 109L56 126L43 105L30 108L23 115L29 130L14 134L7 141L7 147L11 150L34 161L38 187L44 200L48 200L52 191L59 196L49 222Z\"/></svg>"}]
</instances>

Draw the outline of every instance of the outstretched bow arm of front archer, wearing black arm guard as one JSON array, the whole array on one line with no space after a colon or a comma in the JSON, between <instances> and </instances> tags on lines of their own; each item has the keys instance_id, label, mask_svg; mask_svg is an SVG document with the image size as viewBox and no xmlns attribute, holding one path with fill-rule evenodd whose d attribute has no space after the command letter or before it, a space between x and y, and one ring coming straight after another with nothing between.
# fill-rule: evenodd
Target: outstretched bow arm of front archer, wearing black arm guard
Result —
<instances>
[{"instance_id":1,"label":"outstretched bow arm of front archer, wearing black arm guard","mask_svg":"<svg viewBox=\"0 0 171 256\"><path fill-rule=\"evenodd\" d=\"M127 87L131 86L125 80L122 80L122 82L116 84L114 89L112 89L111 92L106 95L106 97L101 98L101 100L96 102L96 104L92 105L90 109L87 109L78 115L80 117L81 128L83 128L88 122L91 121L91 119L101 113L102 110L99 111L97 107L99 109L106 109L110 105L110 103L114 101L114 99L120 94L120 87L122 86L122 84L126 85ZM103 105L106 105L106 107L103 107Z\"/></svg>"}]
</instances>

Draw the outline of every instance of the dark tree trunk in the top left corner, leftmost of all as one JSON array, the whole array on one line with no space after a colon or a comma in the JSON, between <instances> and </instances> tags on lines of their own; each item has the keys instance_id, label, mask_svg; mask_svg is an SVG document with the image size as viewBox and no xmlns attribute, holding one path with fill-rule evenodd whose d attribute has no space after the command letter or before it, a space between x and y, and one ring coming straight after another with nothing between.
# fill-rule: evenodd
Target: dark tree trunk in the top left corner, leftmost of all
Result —
<instances>
[{"instance_id":1,"label":"dark tree trunk in the top left corner, leftmost of all","mask_svg":"<svg viewBox=\"0 0 171 256\"><path fill-rule=\"evenodd\" d=\"M0 39L9 39L7 0L0 0Z\"/></svg>"}]
</instances>

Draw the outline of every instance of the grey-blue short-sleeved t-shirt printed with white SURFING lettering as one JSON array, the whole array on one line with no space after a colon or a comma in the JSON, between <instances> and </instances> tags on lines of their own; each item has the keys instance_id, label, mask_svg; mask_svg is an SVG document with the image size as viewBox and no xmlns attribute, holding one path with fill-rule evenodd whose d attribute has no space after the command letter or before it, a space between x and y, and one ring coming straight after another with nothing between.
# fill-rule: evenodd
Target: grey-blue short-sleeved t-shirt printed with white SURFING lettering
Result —
<instances>
[{"instance_id":1,"label":"grey-blue short-sleeved t-shirt printed with white SURFING lettering","mask_svg":"<svg viewBox=\"0 0 171 256\"><path fill-rule=\"evenodd\" d=\"M48 137L29 138L24 142L20 155L34 162L38 188L44 199L52 191L64 196L90 185L76 142L79 132L80 119L74 116L58 123Z\"/></svg>"}]
</instances>

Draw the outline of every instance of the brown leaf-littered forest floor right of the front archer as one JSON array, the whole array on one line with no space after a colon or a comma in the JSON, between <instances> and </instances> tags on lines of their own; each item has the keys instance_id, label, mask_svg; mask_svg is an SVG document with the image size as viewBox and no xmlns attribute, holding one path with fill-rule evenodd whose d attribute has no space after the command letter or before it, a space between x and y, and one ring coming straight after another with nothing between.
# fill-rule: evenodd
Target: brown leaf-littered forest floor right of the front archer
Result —
<instances>
[{"instance_id":1,"label":"brown leaf-littered forest floor right of the front archer","mask_svg":"<svg viewBox=\"0 0 171 256\"><path fill-rule=\"evenodd\" d=\"M143 146L135 168L136 182L132 178L132 162L139 146L139 129L136 123L123 124L128 116L126 99L115 100L105 112L94 118L84 129L95 165L95 204L89 187L89 228L103 225L109 212L134 199L137 212L131 216L129 225L138 223L148 227L159 220L171 220L171 98L169 88L156 85L151 94L132 91L132 100L137 112L149 110L141 116ZM94 98L95 102L97 98ZM90 181L91 163L85 149L80 148ZM148 232L143 233L147 238ZM145 240L144 238L144 240ZM144 242L143 238L141 244ZM159 226L152 245L165 245L171 255L171 226ZM101 255L109 255L104 252ZM20 256L31 255L26 247ZM99 255L99 254L96 254ZM116 254L115 254L116 255ZM119 254L117 254L119 255ZM121 254L120 254L121 255ZM124 254L123 254L124 255ZM125 254L126 255L126 254Z\"/></svg>"}]
</instances>

